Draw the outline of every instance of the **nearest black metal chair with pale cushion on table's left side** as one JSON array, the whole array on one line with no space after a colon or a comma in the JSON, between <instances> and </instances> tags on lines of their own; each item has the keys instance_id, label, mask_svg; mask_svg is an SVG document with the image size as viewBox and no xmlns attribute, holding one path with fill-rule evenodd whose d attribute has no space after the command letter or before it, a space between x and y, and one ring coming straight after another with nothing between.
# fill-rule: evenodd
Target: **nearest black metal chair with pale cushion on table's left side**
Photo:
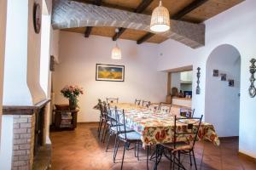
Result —
<instances>
[{"instance_id":1,"label":"nearest black metal chair with pale cushion on table's left side","mask_svg":"<svg viewBox=\"0 0 256 170\"><path fill-rule=\"evenodd\" d=\"M121 113L120 113L121 112ZM136 132L127 132L126 131L126 127L125 127L125 111L118 111L116 110L116 116L117 116L117 122L119 123L119 125L123 125L124 129L121 129L121 126L118 126L118 142L115 146L115 150L114 150L114 156L113 156L113 162L115 162L118 150L119 150L119 142L123 141L125 143L124 146L124 151L123 151L123 157L122 157L122 163L121 163L121 170L123 169L123 164L124 164L124 159L125 159L125 150L128 147L129 144L134 144L134 150L135 150L135 156L137 157L137 159L139 160L139 145L140 143L142 143L141 140L141 135L139 133ZM122 116L122 117L120 117ZM123 120L121 120L121 118ZM122 130L124 130L122 133ZM136 153L137 151L137 153Z\"/></svg>"}]
</instances>

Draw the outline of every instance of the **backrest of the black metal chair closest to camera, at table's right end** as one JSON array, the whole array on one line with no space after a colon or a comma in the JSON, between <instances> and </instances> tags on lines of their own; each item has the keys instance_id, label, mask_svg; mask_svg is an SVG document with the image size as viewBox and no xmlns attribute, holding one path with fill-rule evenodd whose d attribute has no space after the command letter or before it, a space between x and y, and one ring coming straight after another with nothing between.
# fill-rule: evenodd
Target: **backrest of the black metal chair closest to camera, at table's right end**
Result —
<instances>
[{"instance_id":1,"label":"backrest of the black metal chair closest to camera, at table's right end","mask_svg":"<svg viewBox=\"0 0 256 170\"><path fill-rule=\"evenodd\" d=\"M175 117L174 121L174 140L173 145L174 148L176 148L177 145L177 139L179 136L182 136L183 138L186 138L187 141L192 148L195 145L195 141L197 139L197 135L199 132L199 129L201 127L201 117L194 117L194 118L188 118L188 117Z\"/></svg>"}]
</instances>

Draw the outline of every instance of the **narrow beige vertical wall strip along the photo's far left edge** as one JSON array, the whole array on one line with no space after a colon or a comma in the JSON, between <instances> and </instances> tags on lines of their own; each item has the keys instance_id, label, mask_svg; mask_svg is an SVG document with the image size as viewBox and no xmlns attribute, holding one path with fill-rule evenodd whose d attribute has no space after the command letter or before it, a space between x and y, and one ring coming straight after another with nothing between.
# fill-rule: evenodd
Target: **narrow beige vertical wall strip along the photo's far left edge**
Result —
<instances>
[{"instance_id":1,"label":"narrow beige vertical wall strip along the photo's far left edge","mask_svg":"<svg viewBox=\"0 0 256 170\"><path fill-rule=\"evenodd\" d=\"M2 105L3 105L3 64L4 64L4 53L5 53L6 13L7 13L7 1L6 0L0 1L0 150L1 150Z\"/></svg>"}]
</instances>

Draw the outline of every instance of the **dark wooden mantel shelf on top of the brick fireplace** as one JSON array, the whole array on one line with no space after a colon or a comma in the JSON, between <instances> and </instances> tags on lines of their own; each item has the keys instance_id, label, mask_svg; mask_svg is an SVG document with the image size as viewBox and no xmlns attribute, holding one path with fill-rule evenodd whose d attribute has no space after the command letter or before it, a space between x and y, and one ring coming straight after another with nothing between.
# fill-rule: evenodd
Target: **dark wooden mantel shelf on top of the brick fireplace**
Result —
<instances>
[{"instance_id":1,"label":"dark wooden mantel shelf on top of the brick fireplace","mask_svg":"<svg viewBox=\"0 0 256 170\"><path fill-rule=\"evenodd\" d=\"M3 115L32 115L49 103L44 99L36 105L3 105Z\"/></svg>"}]
</instances>

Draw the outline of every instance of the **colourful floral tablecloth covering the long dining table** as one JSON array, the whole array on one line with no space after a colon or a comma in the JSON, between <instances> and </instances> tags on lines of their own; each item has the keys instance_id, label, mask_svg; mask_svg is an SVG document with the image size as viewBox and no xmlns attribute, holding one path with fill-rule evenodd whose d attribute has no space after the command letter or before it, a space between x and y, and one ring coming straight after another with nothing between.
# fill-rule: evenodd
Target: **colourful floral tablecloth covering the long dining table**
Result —
<instances>
[{"instance_id":1,"label":"colourful floral tablecloth covering the long dining table","mask_svg":"<svg viewBox=\"0 0 256 170\"><path fill-rule=\"evenodd\" d=\"M174 116L170 113L153 111L143 106L132 104L114 104L119 111L125 111L125 125L142 135L143 145L161 144L173 141ZM112 111L113 112L113 111ZM184 131L187 127L177 123L177 130ZM219 145L218 135L212 124L201 122L198 139L207 139ZM178 140L186 140L180 136Z\"/></svg>"}]
</instances>

